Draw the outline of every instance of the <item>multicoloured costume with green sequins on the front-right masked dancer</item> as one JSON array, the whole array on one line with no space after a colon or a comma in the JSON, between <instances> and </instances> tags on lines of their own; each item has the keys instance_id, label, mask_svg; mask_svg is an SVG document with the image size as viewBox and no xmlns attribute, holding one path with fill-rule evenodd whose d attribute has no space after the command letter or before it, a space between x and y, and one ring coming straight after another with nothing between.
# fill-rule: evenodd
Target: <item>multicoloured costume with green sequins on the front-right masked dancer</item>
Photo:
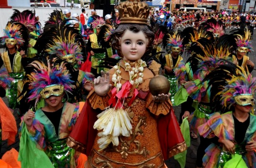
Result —
<instances>
[{"instance_id":1,"label":"multicoloured costume with green sequins on the front-right masked dancer","mask_svg":"<svg viewBox=\"0 0 256 168\"><path fill-rule=\"evenodd\" d=\"M256 152L247 152L245 150L245 145L248 141L256 140L256 116L250 113L250 124L245 132L245 137L242 143L237 144L235 141L235 123L232 111L220 115L215 113L207 121L207 123L198 127L200 135L207 138L213 138L217 136L218 138L224 140L231 140L235 143L236 153L241 154L245 163L248 167L256 167ZM206 155L203 157L203 165L205 168L222 168L225 163L231 159L232 156L229 152L225 151L225 147L217 146L212 143L206 149ZM250 165L251 163L251 165Z\"/></svg>"}]
</instances>

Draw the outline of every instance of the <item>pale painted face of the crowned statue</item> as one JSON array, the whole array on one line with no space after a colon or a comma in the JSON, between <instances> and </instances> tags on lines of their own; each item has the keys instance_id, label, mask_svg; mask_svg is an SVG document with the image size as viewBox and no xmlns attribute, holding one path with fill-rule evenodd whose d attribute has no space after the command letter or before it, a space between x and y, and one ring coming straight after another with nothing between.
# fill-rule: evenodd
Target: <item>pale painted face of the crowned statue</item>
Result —
<instances>
[{"instance_id":1,"label":"pale painted face of the crowned statue","mask_svg":"<svg viewBox=\"0 0 256 168\"><path fill-rule=\"evenodd\" d=\"M134 33L126 30L121 37L121 52L124 60L135 61L140 59L146 52L148 39L142 31Z\"/></svg>"}]
</instances>

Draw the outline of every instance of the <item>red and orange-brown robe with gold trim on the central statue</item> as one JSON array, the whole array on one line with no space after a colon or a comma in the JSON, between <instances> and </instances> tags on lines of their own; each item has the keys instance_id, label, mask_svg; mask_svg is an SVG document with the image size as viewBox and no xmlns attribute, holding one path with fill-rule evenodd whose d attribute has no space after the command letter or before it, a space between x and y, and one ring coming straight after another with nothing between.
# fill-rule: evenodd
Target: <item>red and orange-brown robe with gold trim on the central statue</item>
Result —
<instances>
[{"instance_id":1,"label":"red and orange-brown robe with gold trim on the central statue","mask_svg":"<svg viewBox=\"0 0 256 168\"><path fill-rule=\"evenodd\" d=\"M130 64L136 66L137 63ZM120 66L122 74L120 82L124 84L130 77L125 71L124 61L121 61ZM110 69L110 78L114 72L115 69ZM137 89L133 85L124 102L124 108L132 119L132 134L129 137L119 135L118 146L109 145L101 151L97 144L100 138L97 132L100 131L93 130L93 123L97 119L96 115L109 106L108 101L113 99L112 93L110 91L102 97L91 91L88 95L88 107L81 113L81 120L77 122L82 129L71 133L68 145L90 155L88 156L89 167L164 167L163 160L186 149L170 100L155 103L149 93L149 80L152 77L154 75L150 69L144 68L144 82L138 85ZM113 88L114 83L111 82L111 84ZM138 95L133 97L136 90ZM134 98L132 104L128 105L132 97Z\"/></svg>"}]
</instances>

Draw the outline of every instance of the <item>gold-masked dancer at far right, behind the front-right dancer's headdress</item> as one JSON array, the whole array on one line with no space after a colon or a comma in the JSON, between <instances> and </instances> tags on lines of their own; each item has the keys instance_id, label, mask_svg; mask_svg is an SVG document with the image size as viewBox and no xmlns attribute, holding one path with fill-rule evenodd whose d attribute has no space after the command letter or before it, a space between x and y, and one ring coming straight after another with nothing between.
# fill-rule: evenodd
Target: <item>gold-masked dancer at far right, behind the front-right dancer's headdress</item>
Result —
<instances>
[{"instance_id":1,"label":"gold-masked dancer at far right, behind the front-right dancer's headdress","mask_svg":"<svg viewBox=\"0 0 256 168\"><path fill-rule=\"evenodd\" d=\"M236 55L233 56L233 61L238 66L243 67L247 72L251 73L254 68L254 63L246 55L248 52L253 51L251 43L252 35L250 30L234 30L231 32L236 38L237 51Z\"/></svg>"}]
</instances>

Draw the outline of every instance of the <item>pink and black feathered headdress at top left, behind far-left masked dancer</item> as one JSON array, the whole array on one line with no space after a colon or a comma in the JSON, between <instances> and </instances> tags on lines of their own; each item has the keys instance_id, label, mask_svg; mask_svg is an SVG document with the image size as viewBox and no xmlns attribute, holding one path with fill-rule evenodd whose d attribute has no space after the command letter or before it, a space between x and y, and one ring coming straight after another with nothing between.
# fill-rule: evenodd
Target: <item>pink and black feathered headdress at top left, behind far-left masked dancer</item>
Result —
<instances>
[{"instance_id":1,"label":"pink and black feathered headdress at top left, behind far-left masked dancer","mask_svg":"<svg viewBox=\"0 0 256 168\"><path fill-rule=\"evenodd\" d=\"M17 9L13 9L13 10L14 10L14 13L10 17L12 23L20 22L24 24L30 32L36 30L36 25L40 23L35 17L35 12L33 13L30 10L25 10L22 12L20 12Z\"/></svg>"}]
</instances>

